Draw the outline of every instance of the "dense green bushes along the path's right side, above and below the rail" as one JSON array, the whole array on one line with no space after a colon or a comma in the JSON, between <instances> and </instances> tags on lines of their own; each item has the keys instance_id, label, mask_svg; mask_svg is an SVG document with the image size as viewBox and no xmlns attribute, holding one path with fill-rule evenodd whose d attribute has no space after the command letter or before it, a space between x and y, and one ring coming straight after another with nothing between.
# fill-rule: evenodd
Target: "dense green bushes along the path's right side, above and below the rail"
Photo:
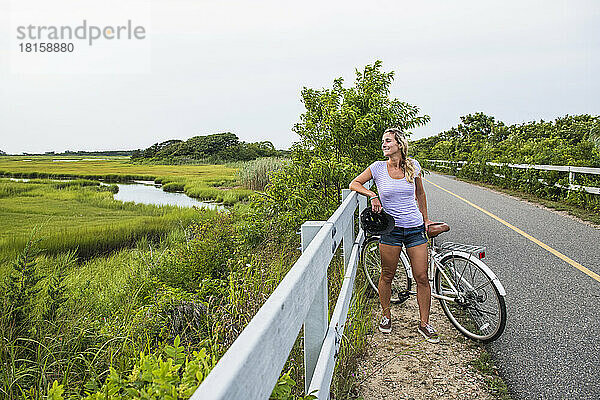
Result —
<instances>
[{"instance_id":1,"label":"dense green bushes along the path's right side, above and below the rail","mask_svg":"<svg viewBox=\"0 0 600 400\"><path fill-rule=\"evenodd\" d=\"M517 189L572 207L600 211L600 198L585 191L566 190L569 184L599 187L600 176L568 171L510 168L502 164L538 164L600 167L600 119L576 115L552 122L506 126L494 117L476 113L461 117L461 124L438 135L417 140L414 156L425 168L462 179ZM462 161L440 166L427 160ZM489 164L497 163L497 165Z\"/></svg>"}]
</instances>

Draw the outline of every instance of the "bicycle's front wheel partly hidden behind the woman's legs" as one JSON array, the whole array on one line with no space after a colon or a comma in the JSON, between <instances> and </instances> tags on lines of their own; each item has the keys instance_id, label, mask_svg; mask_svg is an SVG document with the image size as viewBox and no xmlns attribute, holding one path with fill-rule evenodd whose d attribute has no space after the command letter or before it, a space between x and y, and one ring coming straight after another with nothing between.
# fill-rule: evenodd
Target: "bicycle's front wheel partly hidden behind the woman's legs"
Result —
<instances>
[{"instance_id":1,"label":"bicycle's front wheel partly hidden behind the woman's legs","mask_svg":"<svg viewBox=\"0 0 600 400\"><path fill-rule=\"evenodd\" d=\"M365 275L369 285L379 293L379 276L381 275L381 255L379 254L379 239L372 237L367 239L363 245L361 260ZM407 267L410 268L410 264L406 254L400 253L398 259L398 267L396 268L396 274L392 281L392 303L402 303L408 299L410 295L411 279L407 274Z\"/></svg>"}]
</instances>

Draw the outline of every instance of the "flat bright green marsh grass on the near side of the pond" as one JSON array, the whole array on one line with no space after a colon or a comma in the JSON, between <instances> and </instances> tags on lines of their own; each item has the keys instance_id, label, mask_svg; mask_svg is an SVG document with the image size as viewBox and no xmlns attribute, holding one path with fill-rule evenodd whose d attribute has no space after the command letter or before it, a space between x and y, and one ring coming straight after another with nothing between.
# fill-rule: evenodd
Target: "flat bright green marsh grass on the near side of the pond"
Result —
<instances>
[{"instance_id":1,"label":"flat bright green marsh grass on the near side of the pond","mask_svg":"<svg viewBox=\"0 0 600 400\"><path fill-rule=\"evenodd\" d=\"M90 258L199 218L194 209L122 203L113 200L110 187L68 183L0 179L0 262L14 258L34 228L44 253L72 250Z\"/></svg>"}]
</instances>

